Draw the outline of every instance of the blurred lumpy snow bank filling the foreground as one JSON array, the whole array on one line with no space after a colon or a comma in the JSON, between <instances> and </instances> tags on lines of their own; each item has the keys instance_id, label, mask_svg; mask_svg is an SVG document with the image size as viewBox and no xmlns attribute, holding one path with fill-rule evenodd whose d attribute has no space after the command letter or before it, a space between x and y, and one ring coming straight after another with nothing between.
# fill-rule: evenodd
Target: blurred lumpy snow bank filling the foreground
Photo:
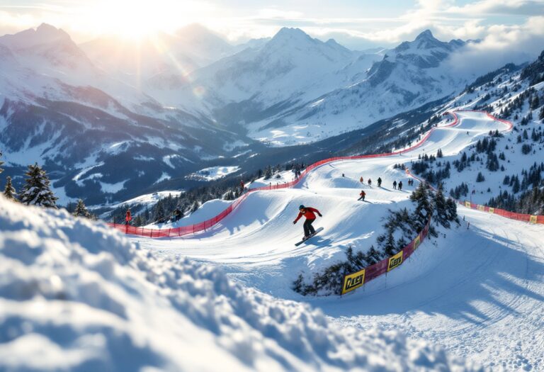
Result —
<instances>
[{"instance_id":1,"label":"blurred lumpy snow bank filling the foreground","mask_svg":"<svg viewBox=\"0 0 544 372\"><path fill-rule=\"evenodd\" d=\"M63 211L0 197L0 231L0 370L464 368L436 346L340 328Z\"/></svg>"}]
</instances>

